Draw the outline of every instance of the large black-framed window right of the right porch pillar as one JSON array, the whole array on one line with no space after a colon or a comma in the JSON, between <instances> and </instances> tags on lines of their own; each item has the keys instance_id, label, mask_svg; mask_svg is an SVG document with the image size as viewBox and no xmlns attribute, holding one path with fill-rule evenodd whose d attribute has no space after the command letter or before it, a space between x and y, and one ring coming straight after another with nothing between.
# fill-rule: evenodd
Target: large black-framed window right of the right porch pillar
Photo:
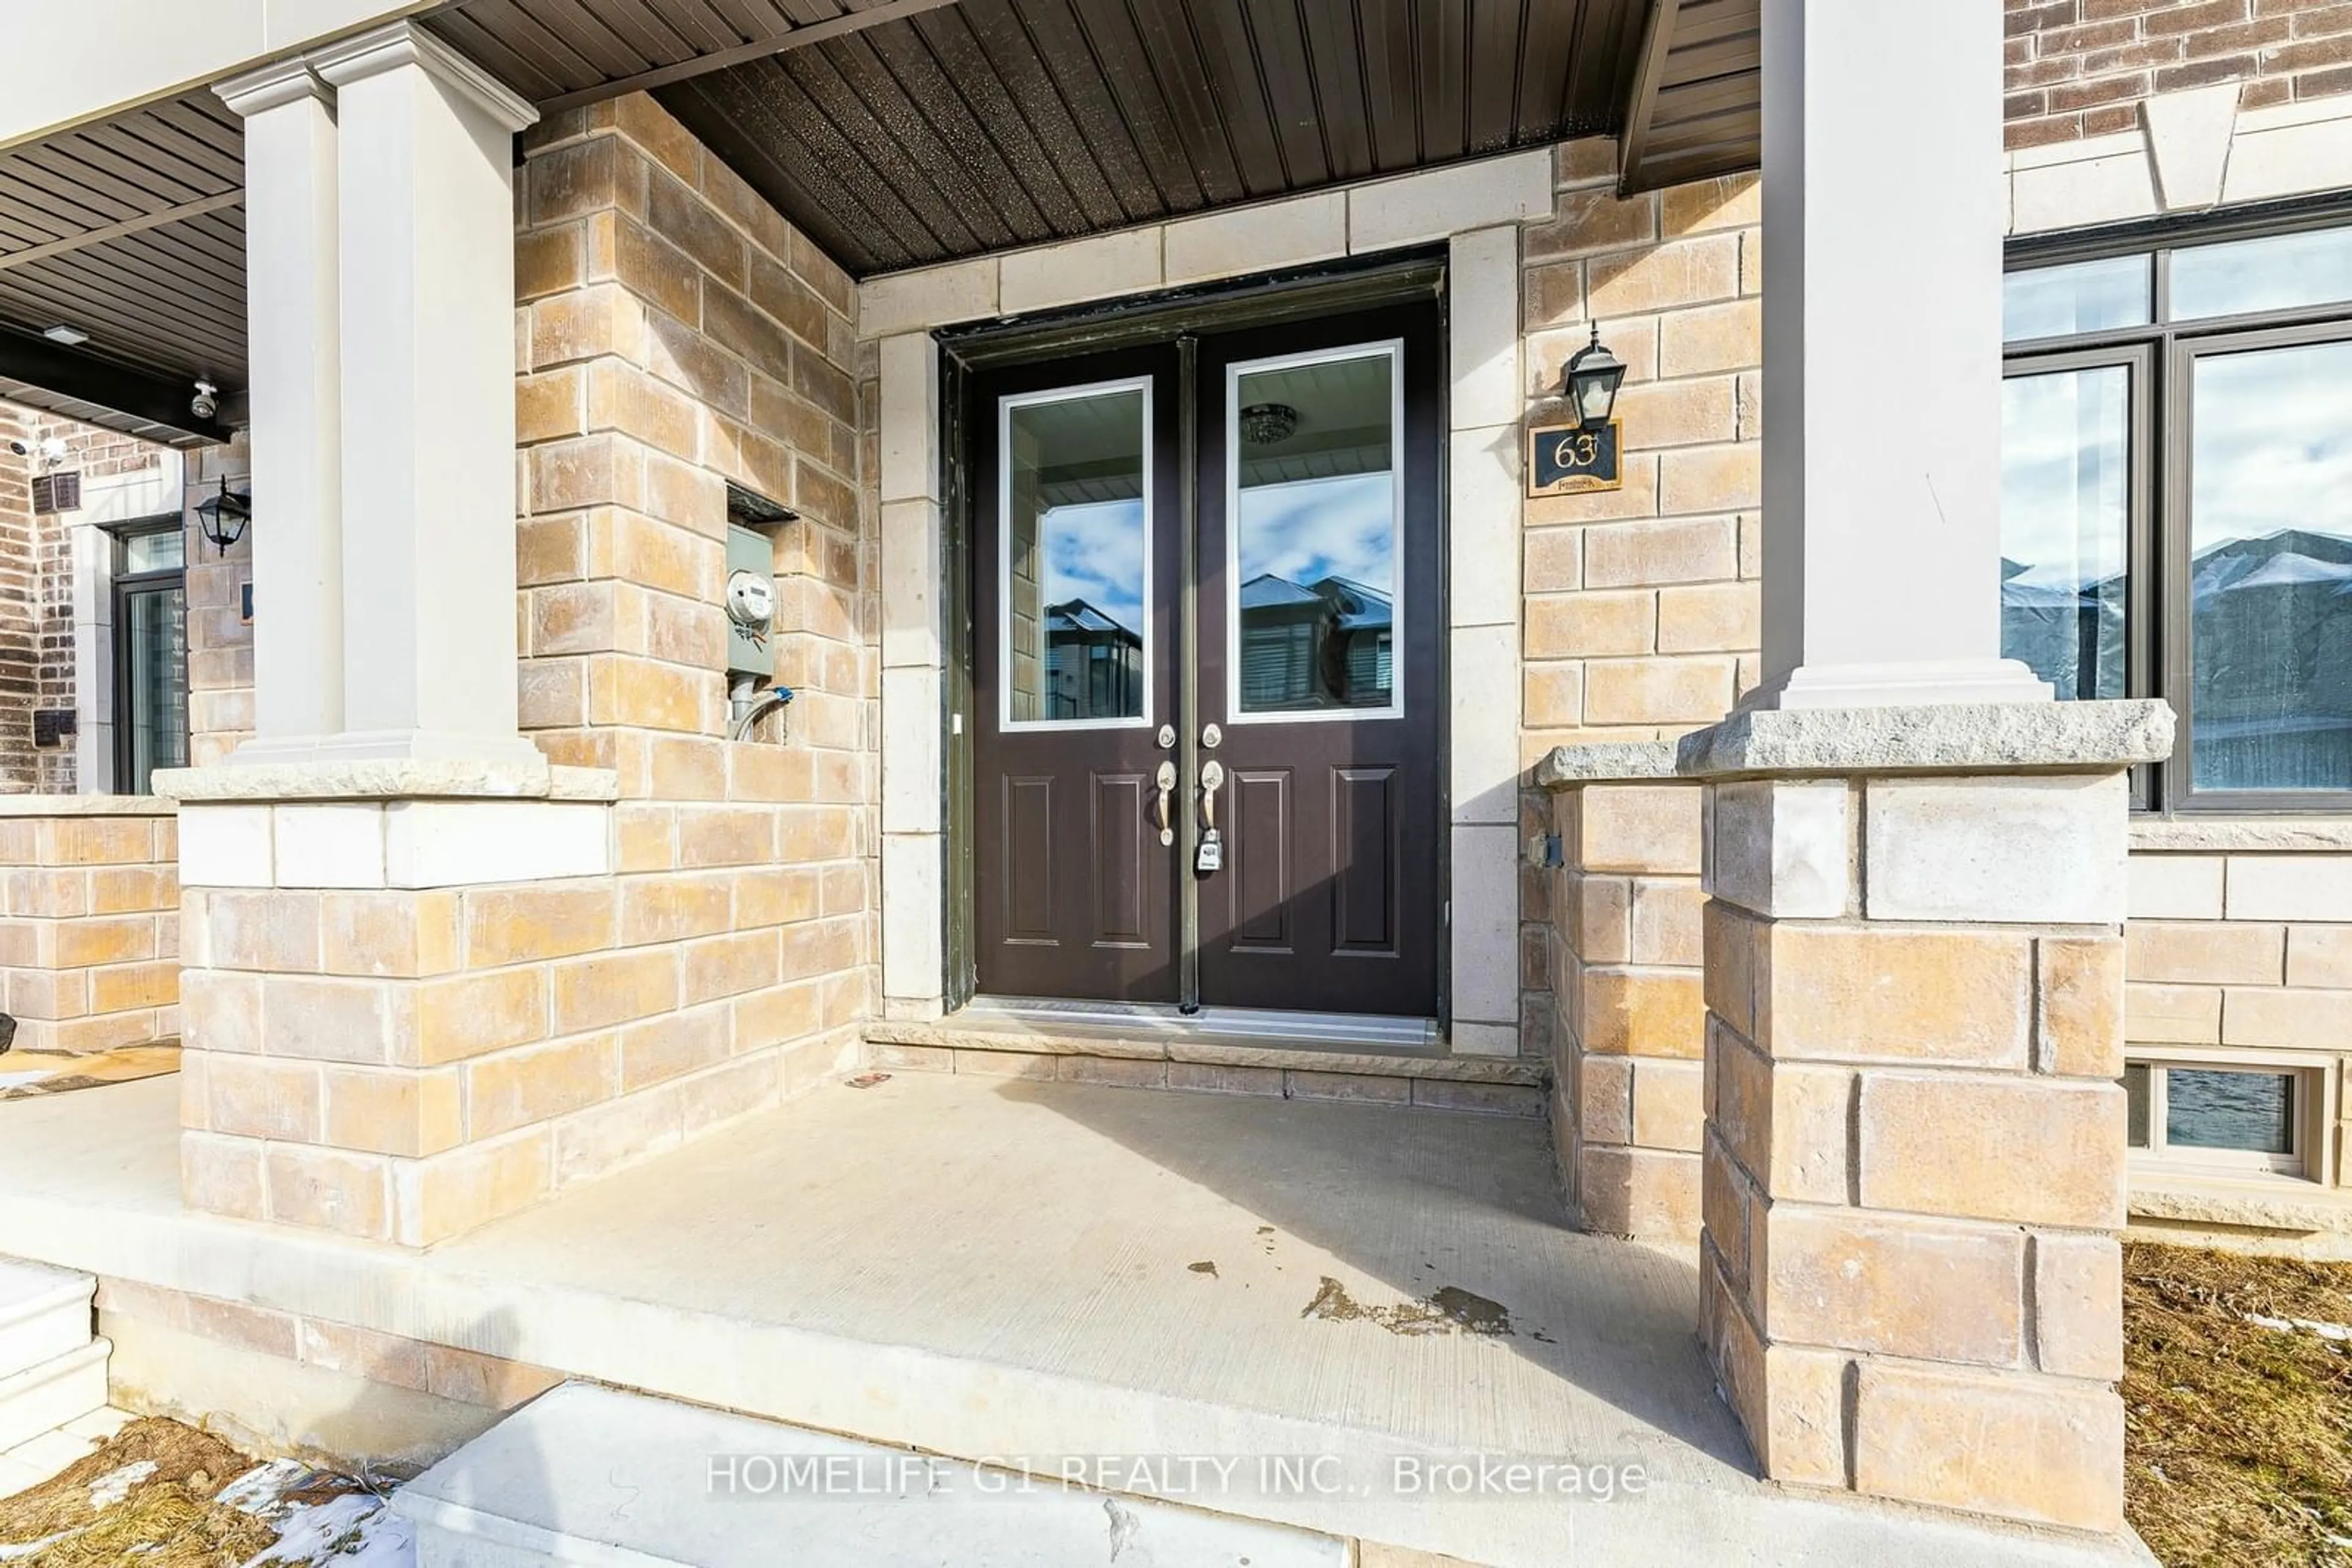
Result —
<instances>
[{"instance_id":1,"label":"large black-framed window right of the right porch pillar","mask_svg":"<svg viewBox=\"0 0 2352 1568\"><path fill-rule=\"evenodd\" d=\"M2352 214L2016 263L2002 651L2161 696L2159 811L2352 806Z\"/></svg>"}]
</instances>

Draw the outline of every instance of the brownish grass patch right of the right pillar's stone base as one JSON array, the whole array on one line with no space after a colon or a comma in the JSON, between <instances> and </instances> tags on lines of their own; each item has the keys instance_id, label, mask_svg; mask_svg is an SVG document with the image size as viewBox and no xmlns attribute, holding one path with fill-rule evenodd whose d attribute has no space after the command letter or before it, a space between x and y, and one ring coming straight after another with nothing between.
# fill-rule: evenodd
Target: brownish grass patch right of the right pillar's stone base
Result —
<instances>
[{"instance_id":1,"label":"brownish grass patch right of the right pillar's stone base","mask_svg":"<svg viewBox=\"0 0 2352 1568\"><path fill-rule=\"evenodd\" d=\"M2124 1248L2124 1509L2169 1568L2352 1566L2352 1265Z\"/></svg>"}]
</instances>

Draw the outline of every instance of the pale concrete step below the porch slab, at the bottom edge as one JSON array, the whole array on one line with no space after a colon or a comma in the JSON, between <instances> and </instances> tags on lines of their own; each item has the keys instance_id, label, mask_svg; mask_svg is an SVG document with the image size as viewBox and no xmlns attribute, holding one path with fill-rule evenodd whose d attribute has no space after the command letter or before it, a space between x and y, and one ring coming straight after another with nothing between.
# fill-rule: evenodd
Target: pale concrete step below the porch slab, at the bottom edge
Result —
<instances>
[{"instance_id":1,"label":"pale concrete step below the porch slab, at the bottom edge","mask_svg":"<svg viewBox=\"0 0 2352 1568\"><path fill-rule=\"evenodd\" d=\"M1345 1568L1277 1523L567 1382L405 1486L419 1568ZM786 1547L788 1542L788 1547Z\"/></svg>"}]
</instances>

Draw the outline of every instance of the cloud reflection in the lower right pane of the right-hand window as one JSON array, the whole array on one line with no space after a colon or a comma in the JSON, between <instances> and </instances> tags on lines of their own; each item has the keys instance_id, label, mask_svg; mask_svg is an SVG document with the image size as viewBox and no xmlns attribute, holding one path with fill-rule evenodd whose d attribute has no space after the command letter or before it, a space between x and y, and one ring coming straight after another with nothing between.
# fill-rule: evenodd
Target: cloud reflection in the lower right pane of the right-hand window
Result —
<instances>
[{"instance_id":1,"label":"cloud reflection in the lower right pane of the right-hand window","mask_svg":"<svg viewBox=\"0 0 2352 1568\"><path fill-rule=\"evenodd\" d=\"M2279 529L2352 536L2352 343L2197 362L2190 548Z\"/></svg>"}]
</instances>

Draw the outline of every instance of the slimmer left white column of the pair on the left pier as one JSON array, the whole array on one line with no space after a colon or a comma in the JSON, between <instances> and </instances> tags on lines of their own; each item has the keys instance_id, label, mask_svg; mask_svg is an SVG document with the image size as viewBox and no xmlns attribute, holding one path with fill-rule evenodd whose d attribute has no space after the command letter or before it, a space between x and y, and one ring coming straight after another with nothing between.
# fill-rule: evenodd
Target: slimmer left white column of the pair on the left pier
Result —
<instances>
[{"instance_id":1,"label":"slimmer left white column of the pair on the left pier","mask_svg":"<svg viewBox=\"0 0 2352 1568\"><path fill-rule=\"evenodd\" d=\"M334 92L301 61L214 87L245 118L254 738L308 757L343 726L341 322Z\"/></svg>"}]
</instances>

